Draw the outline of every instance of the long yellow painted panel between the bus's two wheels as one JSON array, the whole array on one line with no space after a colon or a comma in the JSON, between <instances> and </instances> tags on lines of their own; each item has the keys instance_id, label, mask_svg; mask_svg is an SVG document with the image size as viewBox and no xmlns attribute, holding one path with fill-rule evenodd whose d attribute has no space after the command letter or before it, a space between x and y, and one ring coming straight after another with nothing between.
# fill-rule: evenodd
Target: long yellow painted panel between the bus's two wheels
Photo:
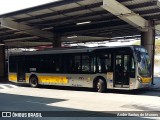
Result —
<instances>
[{"instance_id":1,"label":"long yellow painted panel between the bus's two wheels","mask_svg":"<svg viewBox=\"0 0 160 120\"><path fill-rule=\"evenodd\" d=\"M38 76L40 83L67 84L68 79L64 76Z\"/></svg>"}]
</instances>

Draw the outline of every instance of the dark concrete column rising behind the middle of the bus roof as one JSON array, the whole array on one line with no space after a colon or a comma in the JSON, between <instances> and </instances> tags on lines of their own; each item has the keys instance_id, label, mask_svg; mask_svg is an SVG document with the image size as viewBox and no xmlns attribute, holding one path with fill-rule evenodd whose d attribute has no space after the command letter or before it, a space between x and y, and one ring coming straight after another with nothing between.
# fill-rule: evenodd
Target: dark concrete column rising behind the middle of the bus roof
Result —
<instances>
[{"instance_id":1,"label":"dark concrete column rising behind the middle of the bus roof","mask_svg":"<svg viewBox=\"0 0 160 120\"><path fill-rule=\"evenodd\" d=\"M61 35L59 33L54 34L53 47L61 47Z\"/></svg>"}]
</instances>

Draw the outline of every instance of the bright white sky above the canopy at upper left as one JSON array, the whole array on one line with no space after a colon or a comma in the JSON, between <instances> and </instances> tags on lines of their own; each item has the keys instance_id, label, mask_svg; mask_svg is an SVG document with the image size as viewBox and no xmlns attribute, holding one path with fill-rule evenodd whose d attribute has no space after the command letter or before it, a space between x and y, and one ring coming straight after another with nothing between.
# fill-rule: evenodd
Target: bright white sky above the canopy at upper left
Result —
<instances>
[{"instance_id":1,"label":"bright white sky above the canopy at upper left","mask_svg":"<svg viewBox=\"0 0 160 120\"><path fill-rule=\"evenodd\" d=\"M0 15L58 0L0 0Z\"/></svg>"}]
</instances>

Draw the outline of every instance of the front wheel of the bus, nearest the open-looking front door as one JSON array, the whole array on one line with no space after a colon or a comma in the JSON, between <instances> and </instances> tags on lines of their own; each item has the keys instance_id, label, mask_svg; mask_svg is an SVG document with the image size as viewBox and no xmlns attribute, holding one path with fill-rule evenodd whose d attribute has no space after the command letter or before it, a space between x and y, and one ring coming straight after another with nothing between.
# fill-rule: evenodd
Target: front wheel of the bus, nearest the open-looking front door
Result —
<instances>
[{"instance_id":1,"label":"front wheel of the bus, nearest the open-looking front door","mask_svg":"<svg viewBox=\"0 0 160 120\"><path fill-rule=\"evenodd\" d=\"M106 91L105 82L102 79L99 79L96 84L96 89L98 92L103 93Z\"/></svg>"}]
</instances>

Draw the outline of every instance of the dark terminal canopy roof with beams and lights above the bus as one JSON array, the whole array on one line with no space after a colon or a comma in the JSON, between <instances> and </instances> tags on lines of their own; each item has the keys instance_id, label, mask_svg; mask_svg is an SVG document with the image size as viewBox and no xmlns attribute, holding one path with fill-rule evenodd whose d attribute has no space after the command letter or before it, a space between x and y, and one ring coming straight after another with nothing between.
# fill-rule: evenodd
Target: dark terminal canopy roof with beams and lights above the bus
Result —
<instances>
[{"instance_id":1,"label":"dark terminal canopy roof with beams and lights above the bus","mask_svg":"<svg viewBox=\"0 0 160 120\"><path fill-rule=\"evenodd\" d=\"M160 23L158 0L116 1L145 20ZM112 41L140 36L138 27L102 6L103 0L60 0L0 15L0 41L10 47L22 47L52 44L57 34L62 42Z\"/></svg>"}]
</instances>

